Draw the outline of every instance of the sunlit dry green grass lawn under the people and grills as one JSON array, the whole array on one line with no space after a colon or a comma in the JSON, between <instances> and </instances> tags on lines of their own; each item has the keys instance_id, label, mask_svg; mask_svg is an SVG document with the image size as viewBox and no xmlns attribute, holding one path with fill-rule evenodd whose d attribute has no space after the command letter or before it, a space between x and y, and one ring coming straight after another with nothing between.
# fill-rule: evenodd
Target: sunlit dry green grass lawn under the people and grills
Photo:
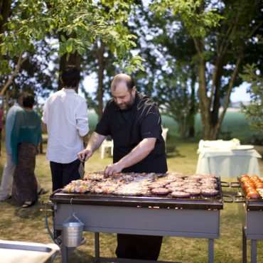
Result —
<instances>
[{"instance_id":1,"label":"sunlit dry green grass lawn under the people and grills","mask_svg":"<svg viewBox=\"0 0 263 263\"><path fill-rule=\"evenodd\" d=\"M167 141L168 171L179 171L190 175L195 173L198 161L198 142L182 142L173 136L168 136ZM45 148L44 148L45 150ZM5 163L5 152L0 159L0 176ZM104 167L111 163L111 158L100 159L100 153L86 163L86 171L102 171ZM263 174L263 161L259 161L261 173ZM39 154L36 161L36 175L38 181L50 192L42 195L38 204L32 208L23 209L16 205L12 200L0 203L0 239L19 240L26 242L41 242L48 244L52 242L45 227L45 212L43 204L49 199L51 193L51 177L48 161L45 154ZM222 178L223 181L236 181L236 178ZM225 194L235 194L235 188L223 188ZM52 228L52 214L48 213L48 222ZM70 252L70 262L94 262L94 234L85 232L87 242L73 252ZM100 237L100 252L104 257L114 257L116 247L116 235L102 234ZM247 242L247 258L249 262L250 242ZM223 210L220 211L220 238L215 240L215 262L219 263L240 263L242 262L242 225L235 203L225 203ZM176 262L203 263L208 260L208 240L183 238L183 237L164 237L159 260ZM258 242L258 262L263 262L263 242ZM0 259L1 262L1 259ZM61 262L61 256L55 259Z\"/></svg>"}]
</instances>

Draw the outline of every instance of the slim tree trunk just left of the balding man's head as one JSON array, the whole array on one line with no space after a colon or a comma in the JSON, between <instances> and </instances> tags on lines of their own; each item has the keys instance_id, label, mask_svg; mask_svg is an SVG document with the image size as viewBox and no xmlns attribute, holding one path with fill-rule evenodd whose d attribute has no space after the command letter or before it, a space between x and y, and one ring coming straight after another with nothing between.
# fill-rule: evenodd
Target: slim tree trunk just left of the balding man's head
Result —
<instances>
[{"instance_id":1,"label":"slim tree trunk just left of the balding man's head","mask_svg":"<svg viewBox=\"0 0 263 263\"><path fill-rule=\"evenodd\" d=\"M98 118L102 117L103 112L103 95L104 95L104 88L103 88L103 79L104 79L104 51L105 51L105 43L103 41L100 41L100 46L97 45L97 59L98 59L98 90L97 90L97 115Z\"/></svg>"}]
</instances>

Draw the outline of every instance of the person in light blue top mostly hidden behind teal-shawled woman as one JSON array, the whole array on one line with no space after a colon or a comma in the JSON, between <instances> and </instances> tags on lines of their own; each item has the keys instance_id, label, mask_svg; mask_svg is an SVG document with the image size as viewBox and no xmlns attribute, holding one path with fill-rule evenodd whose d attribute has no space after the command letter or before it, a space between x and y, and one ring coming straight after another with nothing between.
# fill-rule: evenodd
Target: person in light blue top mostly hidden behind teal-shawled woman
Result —
<instances>
[{"instance_id":1,"label":"person in light blue top mostly hidden behind teal-shawled woman","mask_svg":"<svg viewBox=\"0 0 263 263\"><path fill-rule=\"evenodd\" d=\"M17 96L17 103L9 109L6 115L6 163L4 165L4 171L2 174L2 181L0 187L0 201L8 200L11 198L12 186L14 181L14 171L16 169L16 164L12 161L12 149L11 149L11 131L14 127L14 119L16 112L23 110L23 92L19 93ZM41 188L40 183L38 183L38 195L47 193L48 190Z\"/></svg>"}]
</instances>

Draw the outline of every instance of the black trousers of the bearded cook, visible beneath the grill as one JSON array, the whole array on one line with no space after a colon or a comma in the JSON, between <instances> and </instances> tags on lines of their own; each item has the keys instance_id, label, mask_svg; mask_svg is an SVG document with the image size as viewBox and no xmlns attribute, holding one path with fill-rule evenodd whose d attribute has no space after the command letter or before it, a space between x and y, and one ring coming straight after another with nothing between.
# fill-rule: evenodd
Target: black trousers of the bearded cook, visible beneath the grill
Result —
<instances>
[{"instance_id":1,"label":"black trousers of the bearded cook, visible beneath the grill","mask_svg":"<svg viewBox=\"0 0 263 263\"><path fill-rule=\"evenodd\" d=\"M117 234L117 257L157 260L163 237L152 235Z\"/></svg>"}]
</instances>

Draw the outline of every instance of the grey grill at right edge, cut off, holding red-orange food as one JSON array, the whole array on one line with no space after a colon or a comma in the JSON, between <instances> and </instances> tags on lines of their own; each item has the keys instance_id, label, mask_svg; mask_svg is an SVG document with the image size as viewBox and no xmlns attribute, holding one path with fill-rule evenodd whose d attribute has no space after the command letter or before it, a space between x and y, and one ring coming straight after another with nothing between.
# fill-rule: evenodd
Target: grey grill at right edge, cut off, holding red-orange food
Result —
<instances>
[{"instance_id":1,"label":"grey grill at right edge, cut off, holding red-orange food","mask_svg":"<svg viewBox=\"0 0 263 263\"><path fill-rule=\"evenodd\" d=\"M240 177L237 182L232 182L231 187L238 188L234 197L239 203L240 218L242 218L242 262L247 262L247 239L251 240L251 262L257 262L257 240L263 240L263 198L246 198Z\"/></svg>"}]
</instances>

